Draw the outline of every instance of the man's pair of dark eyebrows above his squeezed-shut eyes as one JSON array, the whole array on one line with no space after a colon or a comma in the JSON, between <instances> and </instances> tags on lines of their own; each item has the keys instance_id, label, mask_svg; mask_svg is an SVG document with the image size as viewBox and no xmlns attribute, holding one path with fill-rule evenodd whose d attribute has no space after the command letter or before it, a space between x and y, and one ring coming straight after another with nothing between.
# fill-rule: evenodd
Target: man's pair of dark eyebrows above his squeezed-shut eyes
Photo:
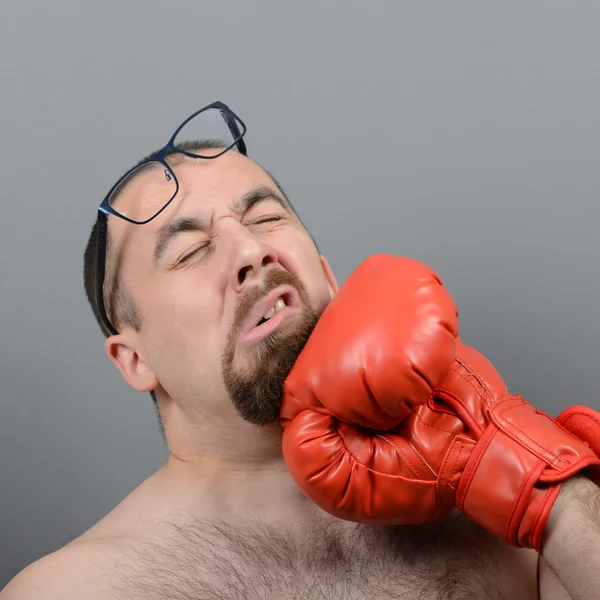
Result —
<instances>
[{"instance_id":1,"label":"man's pair of dark eyebrows above his squeezed-shut eyes","mask_svg":"<svg viewBox=\"0 0 600 600\"><path fill-rule=\"evenodd\" d=\"M267 186L253 188L246 192L235 202L233 211L237 215L241 216L265 200L274 200L286 212L292 212L291 206L285 200L285 198L281 197L274 190ZM199 219L198 217L176 217L175 219L168 221L158 230L156 244L154 245L154 251L152 252L152 262L154 264L158 263L169 244L179 234L186 231L206 231L208 227L208 222L203 219Z\"/></svg>"}]
</instances>

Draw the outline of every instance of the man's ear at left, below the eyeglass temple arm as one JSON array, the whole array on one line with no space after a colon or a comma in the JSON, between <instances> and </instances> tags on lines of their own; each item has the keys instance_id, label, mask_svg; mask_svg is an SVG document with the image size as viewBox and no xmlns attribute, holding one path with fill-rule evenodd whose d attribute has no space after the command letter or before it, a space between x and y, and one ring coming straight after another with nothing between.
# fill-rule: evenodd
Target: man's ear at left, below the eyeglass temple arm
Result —
<instances>
[{"instance_id":1,"label":"man's ear at left, below the eyeglass temple arm","mask_svg":"<svg viewBox=\"0 0 600 600\"><path fill-rule=\"evenodd\" d=\"M133 330L125 330L109 337L104 347L130 387L138 392L150 392L158 387L159 381L140 354L138 343Z\"/></svg>"}]
</instances>

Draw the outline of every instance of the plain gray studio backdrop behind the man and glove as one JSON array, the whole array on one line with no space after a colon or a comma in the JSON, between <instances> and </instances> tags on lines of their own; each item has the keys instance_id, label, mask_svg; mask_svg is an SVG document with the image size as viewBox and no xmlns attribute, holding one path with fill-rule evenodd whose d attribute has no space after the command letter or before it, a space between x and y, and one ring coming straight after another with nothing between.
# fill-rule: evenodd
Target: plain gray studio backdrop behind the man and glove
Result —
<instances>
[{"instance_id":1,"label":"plain gray studio backdrop behind the man and glove","mask_svg":"<svg viewBox=\"0 0 600 600\"><path fill-rule=\"evenodd\" d=\"M114 179L213 100L340 281L421 259L513 390L598 407L599 22L591 2L2 3L0 587L166 458L82 254Z\"/></svg>"}]
</instances>

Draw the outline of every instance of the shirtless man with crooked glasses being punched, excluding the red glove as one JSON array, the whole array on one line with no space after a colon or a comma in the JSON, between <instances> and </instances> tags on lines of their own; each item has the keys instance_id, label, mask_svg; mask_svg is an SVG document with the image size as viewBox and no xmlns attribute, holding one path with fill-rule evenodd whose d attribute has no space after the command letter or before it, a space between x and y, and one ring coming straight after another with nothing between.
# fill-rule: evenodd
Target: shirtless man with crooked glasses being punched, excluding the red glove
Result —
<instances>
[{"instance_id":1,"label":"shirtless man with crooked glasses being punched, excluding the red glove","mask_svg":"<svg viewBox=\"0 0 600 600\"><path fill-rule=\"evenodd\" d=\"M182 144L212 137L209 115L228 140ZM583 475L561 489L543 558L456 510L372 525L300 491L282 453L282 391L338 285L281 188L245 156L244 132L214 105L99 210L88 298L108 357L152 394L170 455L0 600L600 598L600 490Z\"/></svg>"}]
</instances>

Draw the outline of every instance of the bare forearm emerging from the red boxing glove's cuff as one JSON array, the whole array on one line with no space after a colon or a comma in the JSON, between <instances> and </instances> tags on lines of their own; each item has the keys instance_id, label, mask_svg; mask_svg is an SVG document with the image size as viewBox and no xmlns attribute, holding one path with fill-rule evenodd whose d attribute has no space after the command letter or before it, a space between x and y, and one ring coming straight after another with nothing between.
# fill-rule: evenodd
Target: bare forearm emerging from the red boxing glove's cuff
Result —
<instances>
[{"instance_id":1,"label":"bare forearm emerging from the red boxing glove's cuff","mask_svg":"<svg viewBox=\"0 0 600 600\"><path fill-rule=\"evenodd\" d=\"M600 599L600 487L590 479L563 484L542 552L573 600Z\"/></svg>"}]
</instances>

